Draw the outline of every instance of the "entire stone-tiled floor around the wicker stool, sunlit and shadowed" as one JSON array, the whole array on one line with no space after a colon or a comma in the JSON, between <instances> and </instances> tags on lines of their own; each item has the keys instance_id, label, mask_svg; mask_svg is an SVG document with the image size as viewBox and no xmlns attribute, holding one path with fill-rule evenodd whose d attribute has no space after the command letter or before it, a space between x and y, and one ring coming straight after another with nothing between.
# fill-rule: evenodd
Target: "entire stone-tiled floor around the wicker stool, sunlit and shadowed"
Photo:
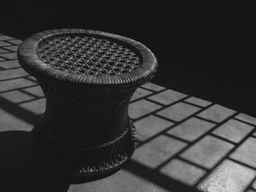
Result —
<instances>
[{"instance_id":1,"label":"entire stone-tiled floor around the wicker stool, sunlit and shadowed","mask_svg":"<svg viewBox=\"0 0 256 192\"><path fill-rule=\"evenodd\" d=\"M0 191L256 192L256 118L150 82L129 104L140 144L124 169L90 183L43 169L28 141L45 98L19 44L0 35Z\"/></svg>"}]
</instances>

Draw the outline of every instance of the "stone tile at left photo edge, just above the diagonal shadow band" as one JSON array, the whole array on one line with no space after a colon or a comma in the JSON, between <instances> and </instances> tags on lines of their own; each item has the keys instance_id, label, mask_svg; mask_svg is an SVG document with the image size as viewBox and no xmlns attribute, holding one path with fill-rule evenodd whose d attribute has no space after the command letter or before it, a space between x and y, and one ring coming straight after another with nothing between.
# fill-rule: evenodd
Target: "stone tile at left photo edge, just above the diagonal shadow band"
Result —
<instances>
[{"instance_id":1,"label":"stone tile at left photo edge, just above the diagonal shadow band","mask_svg":"<svg viewBox=\"0 0 256 192\"><path fill-rule=\"evenodd\" d=\"M6 93L0 93L0 96L4 99L7 99L8 101L11 101L12 103L19 103L23 101L29 101L31 99L34 99L34 96L29 96L26 93L23 93L21 91L8 91Z\"/></svg>"}]
</instances>

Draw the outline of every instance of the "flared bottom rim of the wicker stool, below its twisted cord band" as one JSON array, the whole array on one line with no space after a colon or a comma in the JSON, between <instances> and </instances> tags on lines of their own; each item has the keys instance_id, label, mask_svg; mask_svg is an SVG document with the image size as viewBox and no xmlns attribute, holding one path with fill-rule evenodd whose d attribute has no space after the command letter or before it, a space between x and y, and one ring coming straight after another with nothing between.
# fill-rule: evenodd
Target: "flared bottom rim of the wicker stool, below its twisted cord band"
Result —
<instances>
[{"instance_id":1,"label":"flared bottom rim of the wicker stool, below its twisted cord band","mask_svg":"<svg viewBox=\"0 0 256 192\"><path fill-rule=\"evenodd\" d=\"M34 139L34 150L41 161L45 161L48 166L61 174L71 177L87 177L89 180L90 178L91 180L97 180L108 177L110 174L117 172L122 166L124 166L124 164L127 163L129 158L134 153L137 145L135 126L133 125L132 121L129 120L129 131L127 133L127 137L129 136L129 143L127 147L124 148L123 154L118 154L116 158L112 159L111 161L104 162L103 164L91 164L88 166L83 164L83 159L80 159L78 164L72 162L71 166L67 163L67 161L63 161L60 156L50 152L52 151L51 149L55 147L54 144L56 144L56 141L53 141L54 138L50 138L43 132L43 129L39 126L35 126L31 131ZM58 149L58 147L55 148ZM97 153L97 151L95 153ZM67 154L67 156L68 155L69 154ZM106 156L108 156L108 154ZM83 154L83 158L86 158L86 155ZM99 160L95 159L95 161Z\"/></svg>"}]
</instances>

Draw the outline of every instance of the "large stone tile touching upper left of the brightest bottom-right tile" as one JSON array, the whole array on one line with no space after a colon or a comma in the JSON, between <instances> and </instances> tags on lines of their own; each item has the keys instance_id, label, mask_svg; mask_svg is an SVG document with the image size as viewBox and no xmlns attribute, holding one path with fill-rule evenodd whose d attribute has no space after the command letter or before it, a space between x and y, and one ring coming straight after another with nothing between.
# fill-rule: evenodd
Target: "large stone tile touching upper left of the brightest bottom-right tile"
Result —
<instances>
[{"instance_id":1,"label":"large stone tile touching upper left of the brightest bottom-right tile","mask_svg":"<svg viewBox=\"0 0 256 192\"><path fill-rule=\"evenodd\" d=\"M195 143L195 145L185 150L184 153L181 153L180 156L195 164L211 169L222 160L233 147L234 145L222 141L221 139L206 136Z\"/></svg>"}]
</instances>

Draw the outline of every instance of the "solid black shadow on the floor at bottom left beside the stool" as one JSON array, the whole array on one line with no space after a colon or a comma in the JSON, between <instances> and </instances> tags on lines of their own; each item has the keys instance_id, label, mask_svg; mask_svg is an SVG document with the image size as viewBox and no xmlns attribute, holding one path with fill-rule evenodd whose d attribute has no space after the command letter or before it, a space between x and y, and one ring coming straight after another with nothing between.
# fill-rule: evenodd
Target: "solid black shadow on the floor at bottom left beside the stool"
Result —
<instances>
[{"instance_id":1,"label":"solid black shadow on the floor at bottom left beside the stool","mask_svg":"<svg viewBox=\"0 0 256 192\"><path fill-rule=\"evenodd\" d=\"M0 132L0 191L67 191L64 176L37 161L28 131Z\"/></svg>"}]
</instances>

